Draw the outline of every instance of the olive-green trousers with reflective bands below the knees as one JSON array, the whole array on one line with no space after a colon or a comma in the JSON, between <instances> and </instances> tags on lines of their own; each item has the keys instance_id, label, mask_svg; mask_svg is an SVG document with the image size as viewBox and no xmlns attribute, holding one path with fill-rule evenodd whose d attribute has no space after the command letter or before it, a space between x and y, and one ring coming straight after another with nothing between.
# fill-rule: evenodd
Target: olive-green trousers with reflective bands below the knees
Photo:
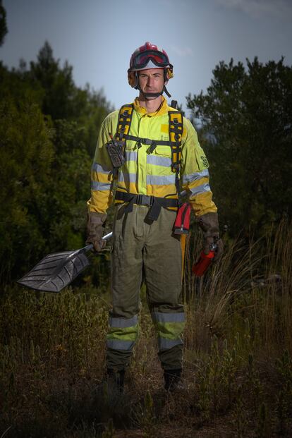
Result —
<instances>
[{"instance_id":1,"label":"olive-green trousers with reflective bands below the knees","mask_svg":"<svg viewBox=\"0 0 292 438\"><path fill-rule=\"evenodd\" d=\"M138 337L140 288L157 330L158 355L164 370L182 367L185 315L181 296L181 243L173 234L176 212L162 208L157 221L147 222L149 207L134 205L123 213L116 206L111 252L113 310L107 333L107 367L123 370Z\"/></svg>"}]
</instances>

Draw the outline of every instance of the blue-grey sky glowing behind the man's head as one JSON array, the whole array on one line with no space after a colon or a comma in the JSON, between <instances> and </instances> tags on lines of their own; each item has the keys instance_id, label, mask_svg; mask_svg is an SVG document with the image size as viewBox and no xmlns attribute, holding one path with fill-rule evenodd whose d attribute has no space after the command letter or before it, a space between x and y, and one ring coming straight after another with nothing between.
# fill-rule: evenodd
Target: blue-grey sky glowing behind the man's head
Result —
<instances>
[{"instance_id":1,"label":"blue-grey sky glowing behind the man's head","mask_svg":"<svg viewBox=\"0 0 292 438\"><path fill-rule=\"evenodd\" d=\"M292 64L291 0L4 0L8 34L4 64L36 59L47 40L54 56L73 66L75 83L103 88L114 107L131 102L126 71L132 52L150 41L174 64L168 90L183 104L205 91L224 60Z\"/></svg>"}]
</instances>

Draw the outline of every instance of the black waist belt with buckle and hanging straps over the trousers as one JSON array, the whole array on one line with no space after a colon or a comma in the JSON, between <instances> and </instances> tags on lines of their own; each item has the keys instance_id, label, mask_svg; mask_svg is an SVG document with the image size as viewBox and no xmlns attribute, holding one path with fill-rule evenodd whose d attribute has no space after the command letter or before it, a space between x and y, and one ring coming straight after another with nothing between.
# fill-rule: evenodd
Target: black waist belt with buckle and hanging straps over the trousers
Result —
<instances>
[{"instance_id":1,"label":"black waist belt with buckle and hanging straps over the trousers","mask_svg":"<svg viewBox=\"0 0 292 438\"><path fill-rule=\"evenodd\" d=\"M124 209L125 213L133 212L133 205L147 205L150 210L147 214L147 219L150 221L156 221L159 217L162 207L178 207L178 200L168 197L157 197L147 195L133 195L133 193L126 193L116 191L115 200L128 202L128 205Z\"/></svg>"}]
</instances>

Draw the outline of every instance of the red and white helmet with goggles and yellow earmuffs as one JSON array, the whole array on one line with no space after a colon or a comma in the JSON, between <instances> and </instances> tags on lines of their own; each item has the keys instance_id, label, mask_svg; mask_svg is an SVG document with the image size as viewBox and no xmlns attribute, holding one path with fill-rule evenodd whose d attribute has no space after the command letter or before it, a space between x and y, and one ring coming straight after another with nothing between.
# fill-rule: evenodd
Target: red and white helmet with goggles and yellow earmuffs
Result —
<instances>
[{"instance_id":1,"label":"red and white helmet with goggles and yellow earmuffs","mask_svg":"<svg viewBox=\"0 0 292 438\"><path fill-rule=\"evenodd\" d=\"M145 42L143 46L138 47L130 57L128 82L131 87L136 88L138 85L138 76L135 72L146 70L147 68L164 68L165 81L174 76L174 67L169 62L169 56L166 54L166 51L150 42Z\"/></svg>"}]
</instances>

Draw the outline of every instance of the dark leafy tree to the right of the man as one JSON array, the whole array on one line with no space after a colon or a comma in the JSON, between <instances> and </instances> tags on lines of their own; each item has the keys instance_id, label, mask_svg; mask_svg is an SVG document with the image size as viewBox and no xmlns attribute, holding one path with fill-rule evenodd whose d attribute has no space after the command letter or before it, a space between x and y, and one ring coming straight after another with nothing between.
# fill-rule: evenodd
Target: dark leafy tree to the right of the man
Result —
<instances>
[{"instance_id":1,"label":"dark leafy tree to the right of the man","mask_svg":"<svg viewBox=\"0 0 292 438\"><path fill-rule=\"evenodd\" d=\"M207 92L187 97L200 119L221 220L259 231L291 214L292 68L223 61Z\"/></svg>"}]
</instances>

